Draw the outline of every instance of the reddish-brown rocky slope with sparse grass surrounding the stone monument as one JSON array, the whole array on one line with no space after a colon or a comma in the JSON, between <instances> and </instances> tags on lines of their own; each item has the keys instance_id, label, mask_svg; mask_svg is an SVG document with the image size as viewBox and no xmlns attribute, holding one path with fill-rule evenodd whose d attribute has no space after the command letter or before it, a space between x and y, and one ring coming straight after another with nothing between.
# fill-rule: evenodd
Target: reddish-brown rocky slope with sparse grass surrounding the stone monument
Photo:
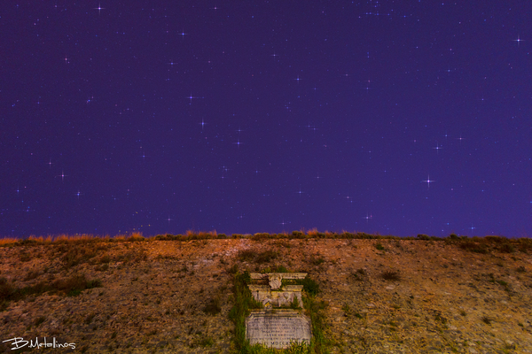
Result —
<instances>
[{"instance_id":1,"label":"reddish-brown rocky slope with sparse grass surrounding the stone monument","mask_svg":"<svg viewBox=\"0 0 532 354\"><path fill-rule=\"evenodd\" d=\"M22 351L2 343L14 337L75 346L47 352L231 352L232 273L286 266L320 285L332 353L532 353L531 263L517 250L420 240L2 247L4 289L57 289L4 303L0 352ZM101 286L66 296L59 282L81 274Z\"/></svg>"}]
</instances>

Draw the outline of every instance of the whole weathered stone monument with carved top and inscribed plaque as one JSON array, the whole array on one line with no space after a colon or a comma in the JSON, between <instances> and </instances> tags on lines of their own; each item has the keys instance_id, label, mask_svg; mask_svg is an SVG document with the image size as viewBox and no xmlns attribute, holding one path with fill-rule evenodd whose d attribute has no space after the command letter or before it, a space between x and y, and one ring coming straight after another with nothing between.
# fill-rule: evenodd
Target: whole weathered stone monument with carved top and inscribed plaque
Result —
<instances>
[{"instance_id":1,"label":"whole weathered stone monument with carved top and inscribed plaque","mask_svg":"<svg viewBox=\"0 0 532 354\"><path fill-rule=\"evenodd\" d=\"M301 313L302 285L283 285L283 280L301 280L307 273L251 273L248 287L262 310L252 310L246 319L246 339L251 345L287 348L292 342L309 343L310 319Z\"/></svg>"}]
</instances>

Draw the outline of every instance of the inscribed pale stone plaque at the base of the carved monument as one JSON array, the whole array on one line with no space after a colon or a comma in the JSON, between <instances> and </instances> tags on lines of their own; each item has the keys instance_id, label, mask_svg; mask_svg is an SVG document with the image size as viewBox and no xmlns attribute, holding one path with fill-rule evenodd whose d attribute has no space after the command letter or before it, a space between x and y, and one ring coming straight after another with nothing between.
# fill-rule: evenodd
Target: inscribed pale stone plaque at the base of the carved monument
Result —
<instances>
[{"instance_id":1,"label":"inscribed pale stone plaque at the base of the carved monument","mask_svg":"<svg viewBox=\"0 0 532 354\"><path fill-rule=\"evenodd\" d=\"M310 343L310 319L291 310L252 312L246 319L246 339L251 345L287 348L292 342Z\"/></svg>"}]
</instances>

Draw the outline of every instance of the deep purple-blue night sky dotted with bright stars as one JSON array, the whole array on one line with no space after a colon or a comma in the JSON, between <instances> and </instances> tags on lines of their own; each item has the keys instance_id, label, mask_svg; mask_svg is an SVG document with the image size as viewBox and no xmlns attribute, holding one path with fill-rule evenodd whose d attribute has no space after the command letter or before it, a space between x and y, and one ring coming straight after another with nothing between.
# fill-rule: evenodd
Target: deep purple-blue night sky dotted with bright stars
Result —
<instances>
[{"instance_id":1,"label":"deep purple-blue night sky dotted with bright stars","mask_svg":"<svg viewBox=\"0 0 532 354\"><path fill-rule=\"evenodd\" d=\"M0 236L532 234L532 4L5 1Z\"/></svg>"}]
</instances>

